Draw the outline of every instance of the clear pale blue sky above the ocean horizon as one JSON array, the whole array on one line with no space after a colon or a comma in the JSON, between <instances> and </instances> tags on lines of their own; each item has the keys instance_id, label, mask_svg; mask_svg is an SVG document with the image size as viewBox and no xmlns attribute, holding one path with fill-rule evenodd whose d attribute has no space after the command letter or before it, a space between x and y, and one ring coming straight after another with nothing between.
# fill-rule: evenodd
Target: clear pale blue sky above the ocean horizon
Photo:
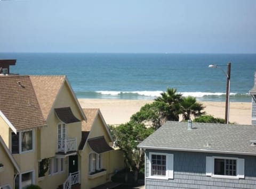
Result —
<instances>
[{"instance_id":1,"label":"clear pale blue sky above the ocean horizon","mask_svg":"<svg viewBox=\"0 0 256 189\"><path fill-rule=\"evenodd\" d=\"M0 0L0 52L256 53L256 0Z\"/></svg>"}]
</instances>

